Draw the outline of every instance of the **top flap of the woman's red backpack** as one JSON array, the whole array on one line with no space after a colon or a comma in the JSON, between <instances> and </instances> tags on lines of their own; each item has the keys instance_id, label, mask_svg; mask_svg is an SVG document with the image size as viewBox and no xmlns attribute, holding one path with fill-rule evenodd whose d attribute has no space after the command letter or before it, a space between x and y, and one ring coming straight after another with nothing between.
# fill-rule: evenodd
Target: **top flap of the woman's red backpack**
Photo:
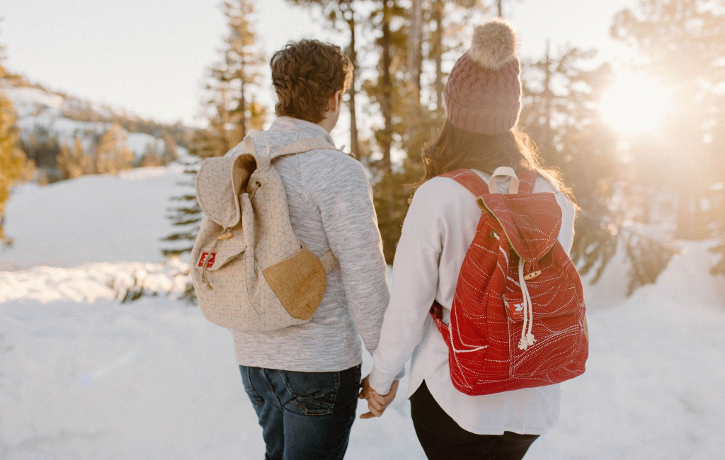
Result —
<instances>
[{"instance_id":1,"label":"top flap of the woman's red backpack","mask_svg":"<svg viewBox=\"0 0 725 460\"><path fill-rule=\"evenodd\" d=\"M491 193L476 198L503 228L516 254L536 262L557 242L561 229L561 207L554 193Z\"/></svg>"}]
</instances>

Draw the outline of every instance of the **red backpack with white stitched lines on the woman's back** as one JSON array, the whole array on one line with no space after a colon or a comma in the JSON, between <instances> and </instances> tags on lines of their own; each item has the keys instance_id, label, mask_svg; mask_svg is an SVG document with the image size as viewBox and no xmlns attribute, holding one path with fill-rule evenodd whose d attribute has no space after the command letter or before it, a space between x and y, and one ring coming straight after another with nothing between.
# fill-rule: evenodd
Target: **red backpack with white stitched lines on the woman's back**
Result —
<instances>
[{"instance_id":1,"label":"red backpack with white stitched lines on the woman's back","mask_svg":"<svg viewBox=\"0 0 725 460\"><path fill-rule=\"evenodd\" d=\"M512 177L508 195L496 193L497 175ZM533 193L536 172L520 175L499 168L489 184L471 170L444 175L482 210L450 323L439 304L431 308L453 385L467 395L563 382L584 373L589 354L581 280L557 240L561 208L554 193Z\"/></svg>"}]
</instances>

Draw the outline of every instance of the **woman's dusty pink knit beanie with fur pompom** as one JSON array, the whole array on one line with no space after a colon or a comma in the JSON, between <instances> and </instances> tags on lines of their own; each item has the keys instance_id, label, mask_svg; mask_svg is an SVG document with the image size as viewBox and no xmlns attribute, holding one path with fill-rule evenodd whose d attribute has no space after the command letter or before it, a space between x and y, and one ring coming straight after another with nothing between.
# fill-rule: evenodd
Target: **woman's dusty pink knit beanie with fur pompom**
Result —
<instances>
[{"instance_id":1,"label":"woman's dusty pink knit beanie with fur pompom","mask_svg":"<svg viewBox=\"0 0 725 460\"><path fill-rule=\"evenodd\" d=\"M448 120L460 130L501 134L518 122L521 68L516 35L504 20L473 30L471 49L453 66L445 89Z\"/></svg>"}]
</instances>

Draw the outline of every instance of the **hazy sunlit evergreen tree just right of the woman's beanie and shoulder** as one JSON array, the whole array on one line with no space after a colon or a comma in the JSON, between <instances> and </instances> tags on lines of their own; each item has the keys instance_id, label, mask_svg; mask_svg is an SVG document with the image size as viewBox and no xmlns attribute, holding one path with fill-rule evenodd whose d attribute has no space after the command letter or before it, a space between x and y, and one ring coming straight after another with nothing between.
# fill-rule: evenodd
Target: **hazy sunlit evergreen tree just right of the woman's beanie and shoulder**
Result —
<instances>
[{"instance_id":1,"label":"hazy sunlit evergreen tree just right of the woman's beanie and shoulder","mask_svg":"<svg viewBox=\"0 0 725 460\"><path fill-rule=\"evenodd\" d=\"M641 196L642 190L624 167L617 136L598 112L613 72L609 64L589 70L593 57L595 51L572 47L552 56L547 45L544 59L526 63L521 125L546 164L562 172L581 207L571 250L579 271L595 270L592 280L598 280L617 249L624 247L631 293L654 283L675 251L631 223L643 206L631 198Z\"/></svg>"}]
</instances>

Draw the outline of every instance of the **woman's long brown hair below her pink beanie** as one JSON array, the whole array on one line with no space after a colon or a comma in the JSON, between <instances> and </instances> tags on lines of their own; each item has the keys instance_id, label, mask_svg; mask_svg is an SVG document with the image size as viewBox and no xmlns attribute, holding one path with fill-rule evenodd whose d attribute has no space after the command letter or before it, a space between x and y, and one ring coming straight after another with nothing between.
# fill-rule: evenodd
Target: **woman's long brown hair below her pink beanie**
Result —
<instances>
[{"instance_id":1,"label":"woman's long brown hair below her pink beanie","mask_svg":"<svg viewBox=\"0 0 725 460\"><path fill-rule=\"evenodd\" d=\"M571 189L562 182L560 172L544 167L534 141L516 128L497 135L476 134L460 130L446 120L436 141L423 151L423 166L426 177L416 187L455 170L470 169L492 174L501 166L514 170L524 167L536 170L573 202Z\"/></svg>"}]
</instances>

